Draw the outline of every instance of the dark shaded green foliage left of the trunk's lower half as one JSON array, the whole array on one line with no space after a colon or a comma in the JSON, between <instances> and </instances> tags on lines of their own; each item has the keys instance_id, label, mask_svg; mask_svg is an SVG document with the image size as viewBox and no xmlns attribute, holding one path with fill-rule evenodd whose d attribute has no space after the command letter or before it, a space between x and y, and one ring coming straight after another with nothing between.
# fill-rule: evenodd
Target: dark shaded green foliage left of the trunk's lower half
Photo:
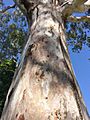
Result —
<instances>
[{"instance_id":1,"label":"dark shaded green foliage left of the trunk's lower half","mask_svg":"<svg viewBox=\"0 0 90 120\"><path fill-rule=\"evenodd\" d=\"M11 84L14 71L16 68L16 60L0 61L0 115L7 95L7 91Z\"/></svg>"}]
</instances>

